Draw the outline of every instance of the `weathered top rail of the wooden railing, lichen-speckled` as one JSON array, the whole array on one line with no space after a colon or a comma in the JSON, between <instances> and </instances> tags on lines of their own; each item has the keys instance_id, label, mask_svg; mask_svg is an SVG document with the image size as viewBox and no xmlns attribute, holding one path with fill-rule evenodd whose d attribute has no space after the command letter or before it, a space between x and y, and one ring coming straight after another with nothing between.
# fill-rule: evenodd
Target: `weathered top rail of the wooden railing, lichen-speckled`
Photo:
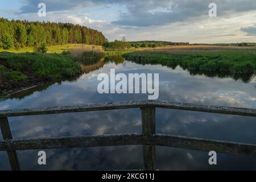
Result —
<instances>
[{"instance_id":1,"label":"weathered top rail of the wooden railing, lichen-speckled","mask_svg":"<svg viewBox=\"0 0 256 182\"><path fill-rule=\"evenodd\" d=\"M39 107L31 109L12 109L0 111L0 117L17 117L25 115L42 115L42 114L60 114L60 113L80 113L86 111L133 109L140 107L159 107L165 109L177 109L187 111L199 111L216 114L231 114L256 117L256 109L247 109L241 107L227 106L209 106L197 104L185 104L180 102L168 101L123 101L123 102L106 102L100 104L73 105L73 106L55 106Z\"/></svg>"}]
</instances>

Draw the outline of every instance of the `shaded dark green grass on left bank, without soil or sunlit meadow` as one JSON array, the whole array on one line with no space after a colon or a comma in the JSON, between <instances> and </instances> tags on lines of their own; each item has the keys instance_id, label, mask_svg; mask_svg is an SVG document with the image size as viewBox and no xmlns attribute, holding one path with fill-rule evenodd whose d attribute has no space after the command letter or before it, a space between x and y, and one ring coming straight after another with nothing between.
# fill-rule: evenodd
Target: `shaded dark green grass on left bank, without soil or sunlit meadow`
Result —
<instances>
[{"instance_id":1,"label":"shaded dark green grass on left bank, without soil or sunlit meadow","mask_svg":"<svg viewBox=\"0 0 256 182\"><path fill-rule=\"evenodd\" d=\"M44 54L44 53L3 53L1 58L5 58L17 78L22 77L18 72L28 71L38 76L61 78L64 76L75 76L81 71L75 59L68 55ZM11 76L7 74L7 76ZM15 79L15 76L11 77Z\"/></svg>"}]
</instances>

